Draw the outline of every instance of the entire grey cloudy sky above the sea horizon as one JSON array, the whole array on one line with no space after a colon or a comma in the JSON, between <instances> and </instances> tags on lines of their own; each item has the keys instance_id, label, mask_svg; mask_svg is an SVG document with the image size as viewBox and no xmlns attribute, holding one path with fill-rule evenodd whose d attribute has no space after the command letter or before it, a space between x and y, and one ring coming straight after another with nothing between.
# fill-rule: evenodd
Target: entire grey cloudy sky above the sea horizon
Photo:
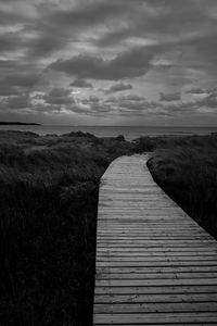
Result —
<instances>
[{"instance_id":1,"label":"entire grey cloudy sky above the sea horizon","mask_svg":"<svg viewBox=\"0 0 217 326\"><path fill-rule=\"evenodd\" d=\"M0 120L216 125L216 0L0 0Z\"/></svg>"}]
</instances>

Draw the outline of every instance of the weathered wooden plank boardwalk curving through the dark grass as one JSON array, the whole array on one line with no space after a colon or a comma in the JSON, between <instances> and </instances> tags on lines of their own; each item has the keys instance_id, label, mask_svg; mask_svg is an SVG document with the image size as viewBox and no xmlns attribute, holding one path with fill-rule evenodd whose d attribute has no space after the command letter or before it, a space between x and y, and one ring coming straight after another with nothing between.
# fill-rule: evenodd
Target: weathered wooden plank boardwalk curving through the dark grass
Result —
<instances>
[{"instance_id":1,"label":"weathered wooden plank boardwalk curving through the dark grass","mask_svg":"<svg viewBox=\"0 0 217 326\"><path fill-rule=\"evenodd\" d=\"M217 241L145 162L122 156L101 179L93 325L217 325Z\"/></svg>"}]
</instances>

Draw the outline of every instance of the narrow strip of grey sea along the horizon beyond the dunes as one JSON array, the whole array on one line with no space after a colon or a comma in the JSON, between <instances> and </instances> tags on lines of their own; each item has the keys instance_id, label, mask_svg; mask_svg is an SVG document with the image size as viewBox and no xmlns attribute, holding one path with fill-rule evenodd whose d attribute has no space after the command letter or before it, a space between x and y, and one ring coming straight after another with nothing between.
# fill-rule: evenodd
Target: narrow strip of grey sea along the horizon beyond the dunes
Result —
<instances>
[{"instance_id":1,"label":"narrow strip of grey sea along the horizon beyond the dunes","mask_svg":"<svg viewBox=\"0 0 217 326\"><path fill-rule=\"evenodd\" d=\"M208 135L217 133L216 127L201 126L63 126L63 125L1 125L0 130L33 131L38 135L63 135L71 131L90 133L97 137L125 136L132 140L141 136L168 136L168 135Z\"/></svg>"}]
</instances>

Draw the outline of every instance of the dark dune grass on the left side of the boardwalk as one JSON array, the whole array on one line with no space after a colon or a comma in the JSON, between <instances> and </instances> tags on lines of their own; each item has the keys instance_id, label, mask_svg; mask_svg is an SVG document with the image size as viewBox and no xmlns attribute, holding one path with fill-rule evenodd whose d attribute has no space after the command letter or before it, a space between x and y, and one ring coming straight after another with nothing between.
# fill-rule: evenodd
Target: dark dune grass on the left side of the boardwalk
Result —
<instances>
[{"instance_id":1,"label":"dark dune grass on the left side of the boardwalk","mask_svg":"<svg viewBox=\"0 0 217 326\"><path fill-rule=\"evenodd\" d=\"M1 325L91 325L101 175L122 137L0 133Z\"/></svg>"}]
</instances>

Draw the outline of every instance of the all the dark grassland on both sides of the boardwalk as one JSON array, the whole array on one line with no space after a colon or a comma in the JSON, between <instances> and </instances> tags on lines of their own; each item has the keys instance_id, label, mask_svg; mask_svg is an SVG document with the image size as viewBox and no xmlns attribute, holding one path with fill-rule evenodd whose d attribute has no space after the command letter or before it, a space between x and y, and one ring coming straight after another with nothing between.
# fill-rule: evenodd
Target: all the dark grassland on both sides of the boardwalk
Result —
<instances>
[{"instance_id":1,"label":"all the dark grassland on both sides of the boardwalk","mask_svg":"<svg viewBox=\"0 0 217 326\"><path fill-rule=\"evenodd\" d=\"M91 325L101 175L151 151L158 185L217 237L217 138L0 131L0 325Z\"/></svg>"}]
</instances>

